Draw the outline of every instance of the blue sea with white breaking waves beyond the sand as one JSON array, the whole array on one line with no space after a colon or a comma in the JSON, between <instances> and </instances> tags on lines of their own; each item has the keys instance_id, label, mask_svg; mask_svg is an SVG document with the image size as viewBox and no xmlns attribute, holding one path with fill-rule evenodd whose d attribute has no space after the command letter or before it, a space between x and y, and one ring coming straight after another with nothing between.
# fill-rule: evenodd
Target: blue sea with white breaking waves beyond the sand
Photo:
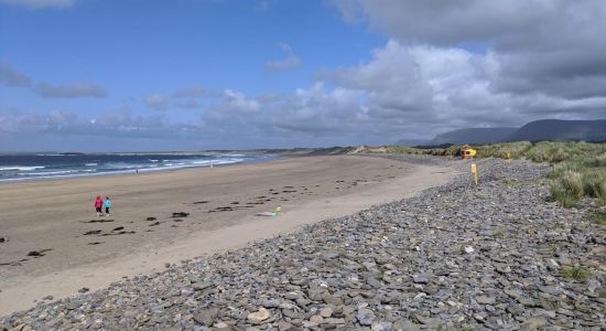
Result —
<instances>
[{"instance_id":1,"label":"blue sea with white breaking waves beyond the sand","mask_svg":"<svg viewBox=\"0 0 606 331\"><path fill-rule=\"evenodd\" d=\"M17 153L0 154L0 182L50 180L263 162L275 154Z\"/></svg>"}]
</instances>

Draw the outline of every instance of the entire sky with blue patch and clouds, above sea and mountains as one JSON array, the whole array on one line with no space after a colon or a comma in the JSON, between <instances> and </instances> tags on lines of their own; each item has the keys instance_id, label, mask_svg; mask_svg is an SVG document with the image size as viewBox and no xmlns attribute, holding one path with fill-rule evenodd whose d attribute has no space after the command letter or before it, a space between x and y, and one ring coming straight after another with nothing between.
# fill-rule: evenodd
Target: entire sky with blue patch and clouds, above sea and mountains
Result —
<instances>
[{"instance_id":1,"label":"entire sky with blue patch and clouds, above sea and mountains","mask_svg":"<svg viewBox=\"0 0 606 331\"><path fill-rule=\"evenodd\" d=\"M0 151L387 145L606 118L603 0L0 0Z\"/></svg>"}]
</instances>

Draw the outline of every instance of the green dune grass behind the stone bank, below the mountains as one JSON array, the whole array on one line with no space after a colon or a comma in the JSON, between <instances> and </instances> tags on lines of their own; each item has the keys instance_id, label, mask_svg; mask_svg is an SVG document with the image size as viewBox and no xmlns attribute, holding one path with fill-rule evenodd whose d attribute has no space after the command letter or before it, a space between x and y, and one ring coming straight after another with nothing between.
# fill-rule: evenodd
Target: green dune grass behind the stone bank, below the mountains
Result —
<instances>
[{"instance_id":1,"label":"green dune grass behind the stone bank, below the mountains","mask_svg":"<svg viewBox=\"0 0 606 331\"><path fill-rule=\"evenodd\" d=\"M423 149L390 146L387 152L458 157L466 147ZM527 159L551 163L553 169L548 174L551 197L565 207L576 206L583 196L595 197L606 205L606 143L517 141L474 148L477 149L477 158Z\"/></svg>"}]
</instances>

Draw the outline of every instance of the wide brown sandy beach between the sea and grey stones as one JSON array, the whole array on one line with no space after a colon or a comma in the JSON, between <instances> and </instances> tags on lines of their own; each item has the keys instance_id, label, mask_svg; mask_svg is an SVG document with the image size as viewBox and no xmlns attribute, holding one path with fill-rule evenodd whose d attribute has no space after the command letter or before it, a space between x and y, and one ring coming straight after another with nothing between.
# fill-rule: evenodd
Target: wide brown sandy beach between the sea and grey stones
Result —
<instances>
[{"instance_id":1,"label":"wide brown sandy beach between the sea and grey stones","mask_svg":"<svg viewBox=\"0 0 606 331\"><path fill-rule=\"evenodd\" d=\"M418 194L453 172L335 156L0 184L0 314ZM97 217L97 194L115 209ZM283 212L275 217L258 212Z\"/></svg>"}]
</instances>

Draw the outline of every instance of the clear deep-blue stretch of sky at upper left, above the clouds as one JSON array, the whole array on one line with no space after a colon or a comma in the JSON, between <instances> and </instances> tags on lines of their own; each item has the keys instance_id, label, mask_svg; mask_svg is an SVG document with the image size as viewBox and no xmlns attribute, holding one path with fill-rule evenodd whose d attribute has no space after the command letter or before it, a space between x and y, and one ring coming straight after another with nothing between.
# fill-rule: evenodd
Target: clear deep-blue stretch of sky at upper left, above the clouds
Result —
<instances>
[{"instance_id":1,"label":"clear deep-blue stretch of sky at upper left, above the clouds","mask_svg":"<svg viewBox=\"0 0 606 331\"><path fill-rule=\"evenodd\" d=\"M2 106L77 107L93 115L150 93L192 86L251 96L288 93L312 84L320 70L368 60L368 50L386 41L346 24L322 1L167 3L84 0L67 8L2 7L2 62L36 83L94 82L108 94L65 100L2 88ZM267 62L286 57L281 44L304 58L295 70L266 68Z\"/></svg>"}]
</instances>

